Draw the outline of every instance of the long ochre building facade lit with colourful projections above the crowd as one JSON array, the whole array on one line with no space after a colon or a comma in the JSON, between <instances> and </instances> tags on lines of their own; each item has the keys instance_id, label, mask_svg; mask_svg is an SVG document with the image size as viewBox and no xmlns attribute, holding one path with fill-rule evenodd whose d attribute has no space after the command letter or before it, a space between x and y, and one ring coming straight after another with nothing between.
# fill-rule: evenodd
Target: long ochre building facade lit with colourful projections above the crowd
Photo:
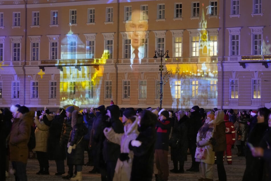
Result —
<instances>
[{"instance_id":1,"label":"long ochre building facade lit with colourful projections above the crowd","mask_svg":"<svg viewBox=\"0 0 271 181\"><path fill-rule=\"evenodd\" d=\"M224 12L221 0L0 1L1 107L18 103L55 110L67 104L107 106L111 100L120 107L157 107L160 58L152 57L160 46L171 57L163 58L163 73L172 69L163 86L163 108L264 105L270 102L264 97L266 88L261 87L264 100L251 98L251 78L268 82L269 67L248 63L244 69L238 62L241 55L253 55L246 47L251 45L250 30L266 26L262 43L269 46L264 38L270 29L264 24L268 14L231 16L231 3L225 3ZM246 12L252 5L242 8ZM255 18L258 28L253 28ZM238 30L240 49L233 56L228 54L229 33ZM133 43L138 44L138 58ZM255 65L260 69L252 71ZM239 86L238 96L230 98L229 79L245 83L248 77L245 89Z\"/></svg>"}]
</instances>

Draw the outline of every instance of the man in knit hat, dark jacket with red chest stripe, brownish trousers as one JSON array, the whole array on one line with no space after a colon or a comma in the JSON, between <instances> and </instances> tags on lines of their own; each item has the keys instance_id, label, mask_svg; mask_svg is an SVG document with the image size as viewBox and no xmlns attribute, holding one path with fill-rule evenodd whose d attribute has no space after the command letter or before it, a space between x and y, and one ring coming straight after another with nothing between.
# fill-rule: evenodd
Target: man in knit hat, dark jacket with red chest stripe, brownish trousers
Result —
<instances>
[{"instance_id":1,"label":"man in knit hat, dark jacket with red chest stripe, brownish trousers","mask_svg":"<svg viewBox=\"0 0 271 181\"><path fill-rule=\"evenodd\" d=\"M172 128L171 118L167 110L160 111L156 122L155 162L158 170L157 178L168 180L168 146L169 134Z\"/></svg>"}]
</instances>

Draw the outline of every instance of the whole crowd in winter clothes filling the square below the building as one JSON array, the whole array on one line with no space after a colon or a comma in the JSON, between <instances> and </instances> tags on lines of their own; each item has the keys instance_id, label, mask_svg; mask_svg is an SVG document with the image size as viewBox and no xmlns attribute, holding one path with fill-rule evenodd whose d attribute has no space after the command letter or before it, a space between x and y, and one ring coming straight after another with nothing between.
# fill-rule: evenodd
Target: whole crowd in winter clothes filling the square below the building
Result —
<instances>
[{"instance_id":1,"label":"whole crowd in winter clothes filling the square below the building","mask_svg":"<svg viewBox=\"0 0 271 181\"><path fill-rule=\"evenodd\" d=\"M87 165L93 166L89 174L101 174L102 181L151 181L155 165L156 181L166 181L169 173L185 172L184 162L190 154L192 164L186 172L201 168L198 180L213 180L216 164L218 178L224 181L224 159L233 163L234 146L238 156L246 157L244 181L271 179L271 111L265 107L248 114L233 109L206 111L199 106L174 112L119 108L111 101L107 107L78 111L69 106L52 114L45 108L33 112L17 104L0 109L0 119L0 162L5 163L1 164L0 180L9 174L14 174L16 181L27 180L31 151L40 166L37 175L49 175L49 160L54 160L55 175L68 180L82 180L82 166ZM34 146L30 143L33 139Z\"/></svg>"}]
</instances>

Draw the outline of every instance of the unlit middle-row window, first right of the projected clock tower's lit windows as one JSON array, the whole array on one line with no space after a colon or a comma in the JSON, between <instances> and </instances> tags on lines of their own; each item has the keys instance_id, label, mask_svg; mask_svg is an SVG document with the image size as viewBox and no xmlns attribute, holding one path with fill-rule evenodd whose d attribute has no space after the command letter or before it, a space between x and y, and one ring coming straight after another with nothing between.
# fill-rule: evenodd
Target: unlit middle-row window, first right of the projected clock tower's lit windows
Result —
<instances>
[{"instance_id":1,"label":"unlit middle-row window, first right of the projected clock tower's lit windows","mask_svg":"<svg viewBox=\"0 0 271 181\"><path fill-rule=\"evenodd\" d=\"M241 39L241 27L234 27L234 28L227 28L229 31L229 56L239 56L240 55L240 39ZM238 40L233 40L232 35L238 35ZM233 45L233 42L235 42L235 45ZM238 43L238 45L236 45ZM235 50L233 50L233 47L235 47ZM236 47L238 47L238 50L236 50ZM235 55L233 55L233 51L235 52ZM236 54L236 51L238 53Z\"/></svg>"}]
</instances>

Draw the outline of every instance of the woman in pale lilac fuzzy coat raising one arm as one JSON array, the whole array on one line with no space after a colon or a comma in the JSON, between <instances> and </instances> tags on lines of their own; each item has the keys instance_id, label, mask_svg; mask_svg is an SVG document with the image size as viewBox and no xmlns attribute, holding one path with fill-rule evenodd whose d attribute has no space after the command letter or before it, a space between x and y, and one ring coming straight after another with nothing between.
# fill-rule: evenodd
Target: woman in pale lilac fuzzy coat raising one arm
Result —
<instances>
[{"instance_id":1,"label":"woman in pale lilac fuzzy coat raising one arm","mask_svg":"<svg viewBox=\"0 0 271 181\"><path fill-rule=\"evenodd\" d=\"M124 133L121 134L115 133L112 127L103 130L109 141L121 145L121 154L117 160L113 181L130 180L134 153L129 150L129 143L139 134L137 121L137 116L129 117L125 122Z\"/></svg>"}]
</instances>

